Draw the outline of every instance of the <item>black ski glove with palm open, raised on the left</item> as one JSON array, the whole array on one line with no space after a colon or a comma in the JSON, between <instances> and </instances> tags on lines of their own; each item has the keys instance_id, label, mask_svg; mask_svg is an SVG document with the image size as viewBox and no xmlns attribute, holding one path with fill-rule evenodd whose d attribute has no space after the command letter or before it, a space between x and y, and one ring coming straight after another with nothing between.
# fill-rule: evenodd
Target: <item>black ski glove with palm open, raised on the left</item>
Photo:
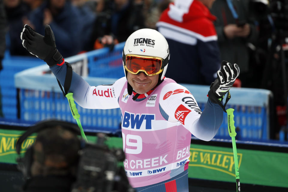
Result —
<instances>
[{"instance_id":1,"label":"black ski glove with palm open, raised on the left","mask_svg":"<svg viewBox=\"0 0 288 192\"><path fill-rule=\"evenodd\" d=\"M22 45L32 55L43 59L50 67L63 64L64 59L56 49L55 37L49 25L45 26L45 37L36 33L29 25L25 25L20 36Z\"/></svg>"}]
</instances>

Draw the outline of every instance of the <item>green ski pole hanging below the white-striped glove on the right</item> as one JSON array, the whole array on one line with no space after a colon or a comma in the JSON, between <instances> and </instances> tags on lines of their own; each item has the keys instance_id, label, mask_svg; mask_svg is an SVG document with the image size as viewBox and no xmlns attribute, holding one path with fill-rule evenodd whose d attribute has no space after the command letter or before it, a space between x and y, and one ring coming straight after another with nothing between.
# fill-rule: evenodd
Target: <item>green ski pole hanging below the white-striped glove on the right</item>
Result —
<instances>
[{"instance_id":1,"label":"green ski pole hanging below the white-striped glove on the right","mask_svg":"<svg viewBox=\"0 0 288 192\"><path fill-rule=\"evenodd\" d=\"M236 177L236 191L240 192L240 177L239 177L239 168L238 168L238 156L237 156L237 149L236 149L236 142L235 142L235 126L234 126L234 109L227 109L227 116L228 116L228 131L229 135L232 139L232 146L233 146L233 154L234 154L234 165L235 165L235 177Z\"/></svg>"}]
</instances>

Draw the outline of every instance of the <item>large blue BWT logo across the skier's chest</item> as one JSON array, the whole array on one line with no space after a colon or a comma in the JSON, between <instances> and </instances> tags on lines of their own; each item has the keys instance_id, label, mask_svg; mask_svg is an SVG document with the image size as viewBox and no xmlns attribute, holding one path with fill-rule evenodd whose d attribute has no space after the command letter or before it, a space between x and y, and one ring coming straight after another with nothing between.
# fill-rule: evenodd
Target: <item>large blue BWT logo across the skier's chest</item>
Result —
<instances>
[{"instance_id":1,"label":"large blue BWT logo across the skier's chest","mask_svg":"<svg viewBox=\"0 0 288 192\"><path fill-rule=\"evenodd\" d=\"M128 113L125 111L123 120L122 120L122 126L125 128L128 128L131 125L131 128L134 129L136 126L136 129L140 129L141 125L143 124L144 119L145 121L145 129L152 129L151 121L155 119L155 114L149 115L149 114L134 114L134 113Z\"/></svg>"}]
</instances>

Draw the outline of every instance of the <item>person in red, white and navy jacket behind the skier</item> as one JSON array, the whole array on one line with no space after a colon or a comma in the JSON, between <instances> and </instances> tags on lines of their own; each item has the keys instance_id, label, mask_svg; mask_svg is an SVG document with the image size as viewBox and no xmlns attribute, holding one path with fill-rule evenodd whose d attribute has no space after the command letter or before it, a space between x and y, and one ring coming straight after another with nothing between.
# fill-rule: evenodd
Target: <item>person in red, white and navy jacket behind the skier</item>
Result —
<instances>
[{"instance_id":1,"label":"person in red, white and navy jacket behind the skier","mask_svg":"<svg viewBox=\"0 0 288 192\"><path fill-rule=\"evenodd\" d=\"M173 65L166 76L178 83L210 85L220 69L220 52L213 25L216 18L208 10L213 2L176 0L169 4L156 24L167 39L172 54L170 63Z\"/></svg>"}]
</instances>

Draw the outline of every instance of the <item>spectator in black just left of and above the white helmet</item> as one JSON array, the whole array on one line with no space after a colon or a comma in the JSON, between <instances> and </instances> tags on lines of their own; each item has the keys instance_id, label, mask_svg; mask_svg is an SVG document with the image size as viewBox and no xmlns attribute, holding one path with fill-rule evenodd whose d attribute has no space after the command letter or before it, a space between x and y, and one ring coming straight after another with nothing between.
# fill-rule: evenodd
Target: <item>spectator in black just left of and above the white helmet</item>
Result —
<instances>
[{"instance_id":1,"label":"spectator in black just left of and above the white helmet","mask_svg":"<svg viewBox=\"0 0 288 192\"><path fill-rule=\"evenodd\" d=\"M105 36L104 41L107 41L107 39L109 41L112 36L118 42L123 42L126 41L131 33L142 29L144 27L142 9L143 3L134 2L134 0L108 1L103 12L97 15L91 37L93 45L90 45L90 49L91 47L94 49L101 47L97 45L97 40L99 43L103 43L99 38L104 35L110 35L110 38ZM95 45L94 42L96 42Z\"/></svg>"}]
</instances>

